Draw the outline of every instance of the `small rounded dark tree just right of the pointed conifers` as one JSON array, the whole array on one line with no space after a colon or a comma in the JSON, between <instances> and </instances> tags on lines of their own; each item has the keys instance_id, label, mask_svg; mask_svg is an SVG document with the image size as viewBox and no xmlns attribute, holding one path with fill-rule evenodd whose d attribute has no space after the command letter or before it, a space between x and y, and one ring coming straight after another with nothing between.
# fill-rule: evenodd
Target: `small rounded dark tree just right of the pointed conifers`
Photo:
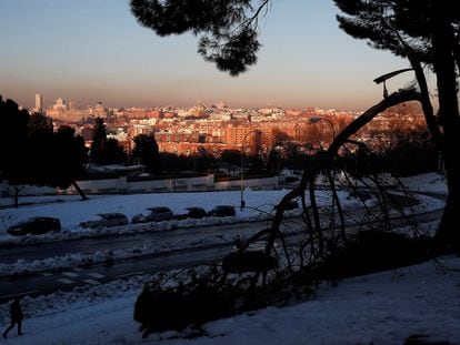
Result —
<instances>
[{"instance_id":1,"label":"small rounded dark tree just right of the pointed conifers","mask_svg":"<svg viewBox=\"0 0 460 345\"><path fill-rule=\"evenodd\" d=\"M148 173L161 172L160 153L154 135L139 134L132 141L134 142L134 149L131 152L132 159L140 159Z\"/></svg>"}]
</instances>

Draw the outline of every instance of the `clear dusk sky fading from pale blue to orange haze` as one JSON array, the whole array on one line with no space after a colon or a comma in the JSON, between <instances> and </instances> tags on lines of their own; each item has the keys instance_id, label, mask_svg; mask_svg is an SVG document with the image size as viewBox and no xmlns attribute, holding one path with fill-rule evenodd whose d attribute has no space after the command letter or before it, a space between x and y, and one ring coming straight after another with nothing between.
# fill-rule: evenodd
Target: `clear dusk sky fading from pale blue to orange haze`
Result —
<instances>
[{"instance_id":1,"label":"clear dusk sky fading from pale blue to orange haze","mask_svg":"<svg viewBox=\"0 0 460 345\"><path fill-rule=\"evenodd\" d=\"M39 92L46 106L63 98L80 106L366 110L382 97L372 80L408 62L348 37L336 14L332 0L273 0L257 65L232 78L203 61L196 37L141 27L128 0L0 0L0 94L26 108ZM390 91L410 81L404 74Z\"/></svg>"}]
</instances>

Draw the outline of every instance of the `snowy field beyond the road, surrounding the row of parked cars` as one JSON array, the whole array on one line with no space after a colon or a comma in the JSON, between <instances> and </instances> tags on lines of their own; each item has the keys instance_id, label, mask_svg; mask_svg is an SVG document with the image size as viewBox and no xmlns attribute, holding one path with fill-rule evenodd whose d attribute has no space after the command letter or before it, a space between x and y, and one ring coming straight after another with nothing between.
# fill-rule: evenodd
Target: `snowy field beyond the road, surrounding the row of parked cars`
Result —
<instances>
[{"instance_id":1,"label":"snowy field beyond the road, surrounding the row of parked cars","mask_svg":"<svg viewBox=\"0 0 460 345\"><path fill-rule=\"evenodd\" d=\"M408 190L416 192L446 192L446 181L443 176L430 173L411 179L401 180ZM8 243L32 243L51 240L69 240L88 236L116 235L120 233L134 233L151 230L169 230L176 227L188 227L196 225L219 224L222 222L234 223L242 221L257 221L267 219L273 212L273 206L279 203L287 190L277 191L244 191L243 199L246 207L241 211L240 191L230 192L202 192L202 193L148 193L136 195L90 195L88 201L81 201L77 195L57 196L22 196L20 201L27 205L19 209L4 207L0 210L0 245ZM350 199L349 192L339 192L342 206L347 210L358 207L356 199ZM330 202L330 197L324 191L318 191L319 204ZM11 197L0 197L0 205L11 205ZM442 202L426 199L424 206L442 206ZM98 219L97 214L107 212L121 212L132 219L134 214L147 214L147 207L168 206L174 214L184 213L186 207L200 206L209 211L218 204L233 205L237 211L234 217L218 219L207 217L203 220L186 220L144 224L130 224L129 226L86 230L79 226L80 222ZM300 210L299 210L300 211ZM42 236L12 237L7 234L8 226L27 220L31 216L53 216L61 221L62 231L50 233Z\"/></svg>"}]
</instances>

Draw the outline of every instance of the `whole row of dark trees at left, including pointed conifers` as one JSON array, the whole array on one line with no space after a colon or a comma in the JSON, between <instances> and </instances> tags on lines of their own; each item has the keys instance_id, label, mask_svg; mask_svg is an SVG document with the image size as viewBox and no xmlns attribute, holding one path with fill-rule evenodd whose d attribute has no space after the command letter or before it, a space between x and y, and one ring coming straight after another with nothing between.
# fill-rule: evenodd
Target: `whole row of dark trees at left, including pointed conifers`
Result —
<instances>
[{"instance_id":1,"label":"whole row of dark trees at left, including pointed conifers","mask_svg":"<svg viewBox=\"0 0 460 345\"><path fill-rule=\"evenodd\" d=\"M50 118L30 114L12 100L0 95L0 177L14 191L14 205L24 185L68 189L73 186L87 199L76 179L87 172L88 163L127 163L140 159L148 172L159 172L159 152L153 135L133 139L131 155L114 139L108 139L102 119L97 119L91 150L81 135L68 125L57 131Z\"/></svg>"}]
</instances>

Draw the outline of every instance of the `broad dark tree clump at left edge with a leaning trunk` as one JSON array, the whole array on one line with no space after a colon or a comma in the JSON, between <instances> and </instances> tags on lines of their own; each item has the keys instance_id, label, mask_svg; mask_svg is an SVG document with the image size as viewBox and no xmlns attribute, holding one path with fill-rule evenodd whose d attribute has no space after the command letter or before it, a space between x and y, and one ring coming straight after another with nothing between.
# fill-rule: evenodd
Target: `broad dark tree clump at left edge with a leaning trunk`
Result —
<instances>
[{"instance_id":1,"label":"broad dark tree clump at left edge with a leaning trunk","mask_svg":"<svg viewBox=\"0 0 460 345\"><path fill-rule=\"evenodd\" d=\"M14 189L16 206L24 184L61 189L72 184L87 199L76 183L88 162L81 136L74 136L70 128L53 133L50 118L39 113L29 116L11 100L1 101L0 114L6 124L0 130L0 171Z\"/></svg>"}]
</instances>

